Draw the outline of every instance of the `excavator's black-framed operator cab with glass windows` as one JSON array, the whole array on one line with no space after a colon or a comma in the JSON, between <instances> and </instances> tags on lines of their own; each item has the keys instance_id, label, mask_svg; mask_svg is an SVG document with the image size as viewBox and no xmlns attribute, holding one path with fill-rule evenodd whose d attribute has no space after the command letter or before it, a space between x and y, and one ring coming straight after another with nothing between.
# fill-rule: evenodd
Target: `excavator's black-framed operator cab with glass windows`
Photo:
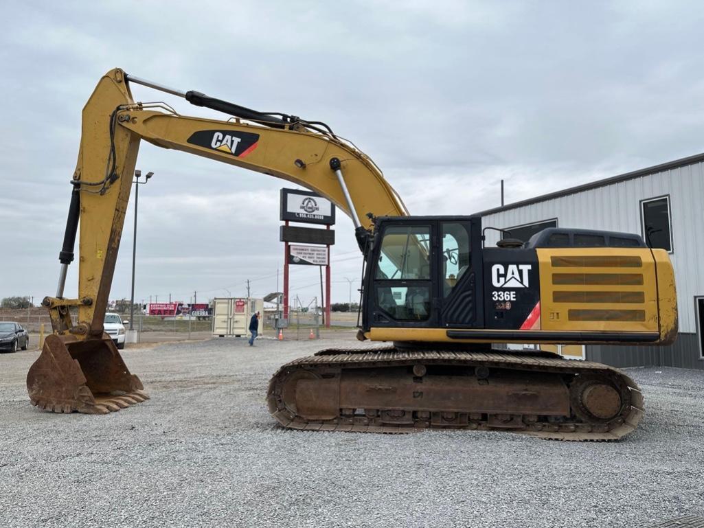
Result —
<instances>
[{"instance_id":1,"label":"excavator's black-framed operator cab with glass windows","mask_svg":"<svg viewBox=\"0 0 704 528\"><path fill-rule=\"evenodd\" d=\"M481 267L481 233L479 216L377 218L366 256L365 329L481 325L472 260L477 254Z\"/></svg>"}]
</instances>

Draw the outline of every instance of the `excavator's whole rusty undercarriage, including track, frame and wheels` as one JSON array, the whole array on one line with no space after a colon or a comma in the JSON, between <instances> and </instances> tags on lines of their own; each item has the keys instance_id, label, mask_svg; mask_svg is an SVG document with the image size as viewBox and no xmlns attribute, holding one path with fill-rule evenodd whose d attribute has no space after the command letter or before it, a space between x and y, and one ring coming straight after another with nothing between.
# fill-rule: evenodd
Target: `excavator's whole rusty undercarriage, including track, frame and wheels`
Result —
<instances>
[{"instance_id":1,"label":"excavator's whole rusty undercarriage, including track, frame and wheels","mask_svg":"<svg viewBox=\"0 0 704 528\"><path fill-rule=\"evenodd\" d=\"M617 440L643 415L640 389L612 367L491 348L327 349L282 366L267 400L291 429L480 429L565 441Z\"/></svg>"}]
</instances>

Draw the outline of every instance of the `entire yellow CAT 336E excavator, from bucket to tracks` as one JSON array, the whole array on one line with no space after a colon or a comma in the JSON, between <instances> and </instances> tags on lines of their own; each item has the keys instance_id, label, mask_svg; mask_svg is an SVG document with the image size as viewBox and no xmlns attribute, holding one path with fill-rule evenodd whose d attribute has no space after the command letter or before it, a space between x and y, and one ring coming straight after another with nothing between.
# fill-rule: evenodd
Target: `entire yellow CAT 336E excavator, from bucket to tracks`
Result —
<instances>
[{"instance_id":1,"label":"entire yellow CAT 336E excavator, from bucket to tracks","mask_svg":"<svg viewBox=\"0 0 704 528\"><path fill-rule=\"evenodd\" d=\"M230 116L135 103L142 84ZM360 432L496 429L614 440L643 415L636 383L607 365L506 344L664 345L677 335L667 252L639 235L552 228L485 247L478 215L411 216L375 163L323 122L104 75L84 107L59 255L54 332L27 374L34 405L108 413L148 398L103 331L139 142L294 182L351 216L363 253L358 339L283 365L267 401L284 427ZM77 298L63 294L80 222ZM77 310L77 320L71 311Z\"/></svg>"}]
</instances>

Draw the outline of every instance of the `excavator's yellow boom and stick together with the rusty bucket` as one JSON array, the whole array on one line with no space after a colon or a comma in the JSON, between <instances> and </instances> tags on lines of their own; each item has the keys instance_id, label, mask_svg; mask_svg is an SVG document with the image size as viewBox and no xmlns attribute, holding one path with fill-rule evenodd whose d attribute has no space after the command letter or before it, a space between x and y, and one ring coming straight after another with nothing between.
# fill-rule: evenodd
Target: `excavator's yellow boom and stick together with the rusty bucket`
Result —
<instances>
[{"instance_id":1,"label":"excavator's yellow boom and stick together with the rusty bucket","mask_svg":"<svg viewBox=\"0 0 704 528\"><path fill-rule=\"evenodd\" d=\"M47 410L102 413L146 398L142 383L130 374L103 332L142 139L317 191L351 215L358 230L372 230L367 213L408 215L370 158L321 123L287 115L276 118L199 92L177 92L137 77L132 80L238 117L190 118L161 103L135 103L129 77L122 70L101 77L83 108L57 294L43 301L54 335L27 374L32 403ZM73 260L79 224L78 295L65 298L66 270Z\"/></svg>"}]
</instances>

